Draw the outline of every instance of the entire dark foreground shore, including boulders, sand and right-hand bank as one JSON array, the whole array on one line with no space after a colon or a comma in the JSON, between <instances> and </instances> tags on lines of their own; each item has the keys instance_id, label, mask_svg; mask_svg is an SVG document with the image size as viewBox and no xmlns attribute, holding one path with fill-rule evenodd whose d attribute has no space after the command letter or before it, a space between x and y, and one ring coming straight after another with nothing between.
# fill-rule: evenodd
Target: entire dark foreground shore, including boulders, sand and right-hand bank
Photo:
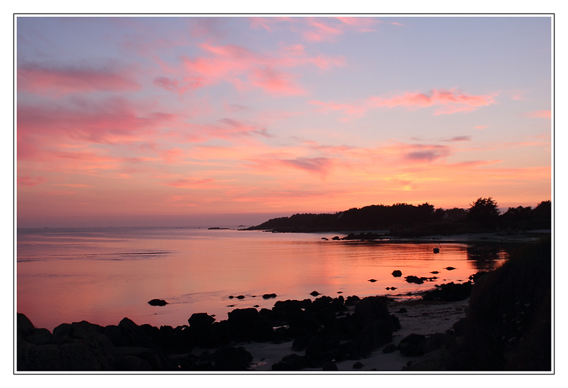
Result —
<instances>
[{"instance_id":1,"label":"entire dark foreground shore, including boulders, sand and right-hand bank","mask_svg":"<svg viewBox=\"0 0 568 388\"><path fill-rule=\"evenodd\" d=\"M550 241L529 244L500 268L415 301L314 292L315 300L236 308L221 321L194 313L176 328L124 318L50 333L18 313L17 370L550 371L550 255Z\"/></svg>"}]
</instances>

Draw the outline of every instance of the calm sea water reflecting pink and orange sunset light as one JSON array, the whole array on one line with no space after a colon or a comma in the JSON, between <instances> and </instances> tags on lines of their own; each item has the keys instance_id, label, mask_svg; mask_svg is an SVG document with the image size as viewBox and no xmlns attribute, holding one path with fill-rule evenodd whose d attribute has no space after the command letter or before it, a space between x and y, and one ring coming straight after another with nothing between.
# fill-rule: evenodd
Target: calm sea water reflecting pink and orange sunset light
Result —
<instances>
[{"instance_id":1,"label":"calm sea water reflecting pink and orange sunset light","mask_svg":"<svg viewBox=\"0 0 568 388\"><path fill-rule=\"evenodd\" d=\"M49 330L81 320L117 325L124 317L138 325L175 327L187 325L192 313L224 320L234 308L315 299L312 291L413 298L435 284L467 281L508 256L506 248L487 244L449 242L435 254L436 243L334 241L334 235L181 227L21 229L17 311ZM403 276L394 277L395 269ZM410 284L404 279L409 275L438 279ZM265 299L266 293L277 297ZM150 306L154 298L168 305Z\"/></svg>"}]
</instances>

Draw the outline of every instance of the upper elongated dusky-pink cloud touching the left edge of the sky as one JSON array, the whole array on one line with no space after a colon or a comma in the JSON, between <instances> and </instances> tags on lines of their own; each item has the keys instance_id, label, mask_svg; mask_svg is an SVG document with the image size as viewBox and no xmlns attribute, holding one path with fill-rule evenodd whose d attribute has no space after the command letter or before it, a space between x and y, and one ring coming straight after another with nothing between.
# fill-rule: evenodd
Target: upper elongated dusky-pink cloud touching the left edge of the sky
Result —
<instances>
[{"instance_id":1,"label":"upper elongated dusky-pink cloud touching the left edge of the sky","mask_svg":"<svg viewBox=\"0 0 568 388\"><path fill-rule=\"evenodd\" d=\"M72 92L131 92L140 86L126 72L92 68L42 68L23 65L18 68L18 90L65 95Z\"/></svg>"}]
</instances>

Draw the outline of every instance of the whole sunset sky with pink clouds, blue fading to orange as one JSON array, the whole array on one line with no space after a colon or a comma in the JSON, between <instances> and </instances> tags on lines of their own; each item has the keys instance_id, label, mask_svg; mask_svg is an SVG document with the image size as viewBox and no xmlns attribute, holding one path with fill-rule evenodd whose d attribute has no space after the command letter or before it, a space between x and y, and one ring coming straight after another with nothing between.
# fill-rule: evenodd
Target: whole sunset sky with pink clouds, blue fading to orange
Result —
<instances>
[{"instance_id":1,"label":"whole sunset sky with pink clouds, blue fading to orange","mask_svg":"<svg viewBox=\"0 0 568 388\"><path fill-rule=\"evenodd\" d=\"M18 227L551 199L550 16L20 16Z\"/></svg>"}]
</instances>

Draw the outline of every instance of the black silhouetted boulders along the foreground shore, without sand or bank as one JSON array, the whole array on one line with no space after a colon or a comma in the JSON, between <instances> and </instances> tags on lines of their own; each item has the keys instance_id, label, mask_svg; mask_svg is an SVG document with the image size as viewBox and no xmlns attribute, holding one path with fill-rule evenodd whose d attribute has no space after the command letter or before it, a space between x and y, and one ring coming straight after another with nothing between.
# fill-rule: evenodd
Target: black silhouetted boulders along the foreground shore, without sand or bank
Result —
<instances>
[{"instance_id":1,"label":"black silhouetted boulders along the foreground shore, without sand or bank","mask_svg":"<svg viewBox=\"0 0 568 388\"><path fill-rule=\"evenodd\" d=\"M470 289L471 282L447 284L422 298L463 301ZM254 344L288 343L289 353L268 370L337 370L337 362L344 360L353 361L352 370L361 370L361 360L381 347L383 352L417 356L455 340L451 331L437 333L433 345L431 335L413 333L394 345L395 332L401 328L398 317L408 313L403 307L389 311L398 304L385 296L320 296L313 301L277 301L272 309L260 311L236 308L219 322L207 313L194 313L188 325L177 328L137 325L124 318L106 327L87 321L64 323L53 333L34 328L18 313L17 367L18 371L215 372L258 370L263 364L267 370L266 362L253 362ZM440 336L445 340L440 342Z\"/></svg>"}]
</instances>

